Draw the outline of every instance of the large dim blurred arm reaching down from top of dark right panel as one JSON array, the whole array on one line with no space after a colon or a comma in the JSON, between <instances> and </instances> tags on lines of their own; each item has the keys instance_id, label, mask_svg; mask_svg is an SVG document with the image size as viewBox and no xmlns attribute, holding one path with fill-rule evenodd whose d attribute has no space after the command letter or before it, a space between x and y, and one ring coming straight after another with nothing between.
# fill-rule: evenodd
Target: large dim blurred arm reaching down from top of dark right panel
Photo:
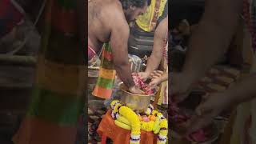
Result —
<instances>
[{"instance_id":1,"label":"large dim blurred arm reaching down from top of dark right panel","mask_svg":"<svg viewBox=\"0 0 256 144\"><path fill-rule=\"evenodd\" d=\"M241 0L208 0L206 11L190 38L182 71L198 80L228 49L238 26ZM216 10L218 9L218 10Z\"/></svg>"}]
</instances>

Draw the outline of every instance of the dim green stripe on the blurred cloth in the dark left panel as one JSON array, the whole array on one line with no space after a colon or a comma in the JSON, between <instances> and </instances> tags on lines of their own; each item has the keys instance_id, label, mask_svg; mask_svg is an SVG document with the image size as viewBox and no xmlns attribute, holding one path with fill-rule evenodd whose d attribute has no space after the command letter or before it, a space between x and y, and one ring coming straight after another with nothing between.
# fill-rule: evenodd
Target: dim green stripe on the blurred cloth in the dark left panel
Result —
<instances>
[{"instance_id":1,"label":"dim green stripe on the blurred cloth in the dark left panel","mask_svg":"<svg viewBox=\"0 0 256 144\"><path fill-rule=\"evenodd\" d=\"M84 106L82 96L58 94L38 86L34 86L32 97L28 114L58 123L58 126L75 126Z\"/></svg>"}]
</instances>

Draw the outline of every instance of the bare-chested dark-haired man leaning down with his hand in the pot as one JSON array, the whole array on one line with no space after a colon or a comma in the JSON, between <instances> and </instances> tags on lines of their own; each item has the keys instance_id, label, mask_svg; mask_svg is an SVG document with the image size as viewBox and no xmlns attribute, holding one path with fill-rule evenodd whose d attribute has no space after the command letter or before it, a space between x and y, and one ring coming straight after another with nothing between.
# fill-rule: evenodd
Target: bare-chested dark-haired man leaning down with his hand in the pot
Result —
<instances>
[{"instance_id":1,"label":"bare-chested dark-haired man leaning down with his hand in the pot","mask_svg":"<svg viewBox=\"0 0 256 144\"><path fill-rule=\"evenodd\" d=\"M128 62L128 22L146 12L150 0L90 0L88 3L88 62L110 42L112 62L118 77L135 94L142 91L134 85Z\"/></svg>"}]
</instances>

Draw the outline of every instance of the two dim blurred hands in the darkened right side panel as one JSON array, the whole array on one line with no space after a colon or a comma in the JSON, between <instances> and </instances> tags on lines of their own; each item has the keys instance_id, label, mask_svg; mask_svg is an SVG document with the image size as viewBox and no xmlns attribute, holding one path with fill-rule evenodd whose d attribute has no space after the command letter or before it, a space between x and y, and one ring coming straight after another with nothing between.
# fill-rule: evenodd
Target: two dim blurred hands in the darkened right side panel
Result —
<instances>
[{"instance_id":1,"label":"two dim blurred hands in the darkened right side panel","mask_svg":"<svg viewBox=\"0 0 256 144\"><path fill-rule=\"evenodd\" d=\"M182 102L190 94L194 82L190 74L172 73L170 78L170 99L174 103ZM208 94L196 108L194 115L179 127L180 134L186 137L196 130L209 126L213 119L231 105L230 96L225 91Z\"/></svg>"}]
</instances>

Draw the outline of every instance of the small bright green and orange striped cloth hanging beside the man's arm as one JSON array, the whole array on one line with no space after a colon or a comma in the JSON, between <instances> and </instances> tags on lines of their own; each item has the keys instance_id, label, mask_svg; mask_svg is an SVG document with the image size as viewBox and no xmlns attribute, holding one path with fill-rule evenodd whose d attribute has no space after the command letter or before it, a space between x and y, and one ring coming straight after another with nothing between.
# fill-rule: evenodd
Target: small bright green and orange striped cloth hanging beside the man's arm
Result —
<instances>
[{"instance_id":1,"label":"small bright green and orange striped cloth hanging beside the man's arm","mask_svg":"<svg viewBox=\"0 0 256 144\"><path fill-rule=\"evenodd\" d=\"M110 43L105 43L102 47L102 60L99 69L98 80L94 87L93 95L99 98L110 98L116 71L112 61L112 51Z\"/></svg>"}]
</instances>

